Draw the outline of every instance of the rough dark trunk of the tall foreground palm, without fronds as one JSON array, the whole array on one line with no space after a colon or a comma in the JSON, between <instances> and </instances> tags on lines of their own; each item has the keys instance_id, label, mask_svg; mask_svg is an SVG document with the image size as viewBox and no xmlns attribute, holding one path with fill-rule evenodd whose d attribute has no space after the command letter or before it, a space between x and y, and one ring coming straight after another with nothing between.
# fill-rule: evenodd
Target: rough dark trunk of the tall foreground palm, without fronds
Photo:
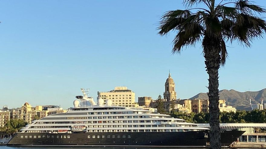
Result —
<instances>
[{"instance_id":1,"label":"rough dark trunk of the tall foreground palm, without fronds","mask_svg":"<svg viewBox=\"0 0 266 149\"><path fill-rule=\"evenodd\" d=\"M220 126L219 126L219 82L218 70L221 64L220 58L220 40L209 38L203 39L203 51L205 57L206 71L209 74L209 114L210 114L210 148L220 149Z\"/></svg>"}]
</instances>

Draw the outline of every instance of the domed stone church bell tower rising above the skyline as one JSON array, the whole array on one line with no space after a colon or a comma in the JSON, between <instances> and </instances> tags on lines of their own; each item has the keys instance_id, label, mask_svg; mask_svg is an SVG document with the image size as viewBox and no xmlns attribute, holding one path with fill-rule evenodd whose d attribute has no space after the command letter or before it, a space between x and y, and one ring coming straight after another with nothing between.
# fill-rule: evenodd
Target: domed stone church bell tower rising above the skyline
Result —
<instances>
[{"instance_id":1,"label":"domed stone church bell tower rising above the skyline","mask_svg":"<svg viewBox=\"0 0 266 149\"><path fill-rule=\"evenodd\" d=\"M175 92L174 79L171 77L170 71L164 86L164 99L166 99L166 101L177 100L177 92Z\"/></svg>"}]
</instances>

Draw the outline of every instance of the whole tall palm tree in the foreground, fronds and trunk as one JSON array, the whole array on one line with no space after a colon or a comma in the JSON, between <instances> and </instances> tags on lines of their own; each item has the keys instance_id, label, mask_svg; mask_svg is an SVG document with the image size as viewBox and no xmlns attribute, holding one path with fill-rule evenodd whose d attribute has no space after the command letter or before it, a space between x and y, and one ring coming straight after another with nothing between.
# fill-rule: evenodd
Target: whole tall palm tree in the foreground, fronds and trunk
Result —
<instances>
[{"instance_id":1,"label":"whole tall palm tree in the foreground, fronds and trunk","mask_svg":"<svg viewBox=\"0 0 266 149\"><path fill-rule=\"evenodd\" d=\"M216 0L217 1L217 0ZM219 128L218 70L227 57L226 42L238 41L250 47L253 39L266 32L260 17L266 10L248 0L184 0L186 10L167 11L159 23L159 35L177 31L172 53L180 54L183 47L202 43L206 71L209 74L210 147L221 148ZM204 8L191 8L202 3Z\"/></svg>"}]
</instances>

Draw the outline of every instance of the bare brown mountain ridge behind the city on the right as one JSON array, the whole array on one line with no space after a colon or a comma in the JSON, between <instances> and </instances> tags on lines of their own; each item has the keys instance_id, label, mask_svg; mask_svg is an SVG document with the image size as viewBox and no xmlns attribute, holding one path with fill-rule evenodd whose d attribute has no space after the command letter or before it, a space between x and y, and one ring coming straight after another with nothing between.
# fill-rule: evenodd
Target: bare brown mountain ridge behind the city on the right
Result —
<instances>
[{"instance_id":1,"label":"bare brown mountain ridge behind the city on the right","mask_svg":"<svg viewBox=\"0 0 266 149\"><path fill-rule=\"evenodd\" d=\"M266 88L257 92L238 92L233 89L219 91L221 100L225 100L227 105L235 107L237 110L250 110L249 99L251 104L261 103L261 99L266 101ZM199 93L190 99L208 99L207 93ZM265 103L265 102L264 102Z\"/></svg>"}]
</instances>

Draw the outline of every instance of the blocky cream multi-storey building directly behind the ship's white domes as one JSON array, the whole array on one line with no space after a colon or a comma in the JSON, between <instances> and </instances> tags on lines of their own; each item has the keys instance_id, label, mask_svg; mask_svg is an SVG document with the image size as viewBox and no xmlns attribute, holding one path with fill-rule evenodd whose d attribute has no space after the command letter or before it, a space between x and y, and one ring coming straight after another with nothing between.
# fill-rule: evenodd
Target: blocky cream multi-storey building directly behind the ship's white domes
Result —
<instances>
[{"instance_id":1,"label":"blocky cream multi-storey building directly behind the ship's white domes","mask_svg":"<svg viewBox=\"0 0 266 149\"><path fill-rule=\"evenodd\" d=\"M109 92L99 92L98 97L104 100L111 99L113 105L123 106L123 107L138 107L135 103L135 92L129 90L127 87L115 87L114 90Z\"/></svg>"}]
</instances>

